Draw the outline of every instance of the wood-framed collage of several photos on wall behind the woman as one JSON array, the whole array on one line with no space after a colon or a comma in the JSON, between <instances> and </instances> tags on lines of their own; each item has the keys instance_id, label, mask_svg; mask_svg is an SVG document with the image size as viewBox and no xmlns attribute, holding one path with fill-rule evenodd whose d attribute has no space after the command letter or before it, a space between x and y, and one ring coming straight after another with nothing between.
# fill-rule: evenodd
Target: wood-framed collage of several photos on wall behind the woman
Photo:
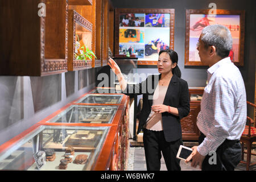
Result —
<instances>
[{"instance_id":1,"label":"wood-framed collage of several photos on wall behind the woman","mask_svg":"<svg viewBox=\"0 0 256 182\"><path fill-rule=\"evenodd\" d=\"M174 9L116 9L115 57L155 65L162 49L174 49Z\"/></svg>"}]
</instances>

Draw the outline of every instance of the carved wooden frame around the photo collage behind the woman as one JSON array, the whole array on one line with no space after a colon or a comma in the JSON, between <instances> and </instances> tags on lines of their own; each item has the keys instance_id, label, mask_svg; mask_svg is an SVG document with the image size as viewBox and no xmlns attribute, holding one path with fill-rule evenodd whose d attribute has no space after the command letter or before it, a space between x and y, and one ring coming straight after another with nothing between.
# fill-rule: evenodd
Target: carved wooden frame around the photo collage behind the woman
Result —
<instances>
[{"instance_id":1,"label":"carved wooden frame around the photo collage behind the woman","mask_svg":"<svg viewBox=\"0 0 256 182\"><path fill-rule=\"evenodd\" d=\"M115 38L114 38L114 55L119 54L119 14L121 13L162 13L170 14L170 48L174 49L174 9L115 9ZM138 60L138 65L156 65L157 61Z\"/></svg>"}]
</instances>

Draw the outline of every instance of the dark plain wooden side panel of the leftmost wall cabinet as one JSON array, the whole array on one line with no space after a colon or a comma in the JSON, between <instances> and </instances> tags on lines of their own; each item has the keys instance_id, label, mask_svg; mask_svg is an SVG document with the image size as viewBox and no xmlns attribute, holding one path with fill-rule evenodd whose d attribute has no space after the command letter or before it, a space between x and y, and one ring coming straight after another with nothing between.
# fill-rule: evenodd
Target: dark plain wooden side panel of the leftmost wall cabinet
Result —
<instances>
[{"instance_id":1,"label":"dark plain wooden side panel of the leftmost wall cabinet","mask_svg":"<svg viewBox=\"0 0 256 182\"><path fill-rule=\"evenodd\" d=\"M40 2L0 2L0 75L37 76L40 72L36 65L40 64L42 18L37 16L38 9L33 8ZM34 61L31 63L31 60Z\"/></svg>"}]
</instances>

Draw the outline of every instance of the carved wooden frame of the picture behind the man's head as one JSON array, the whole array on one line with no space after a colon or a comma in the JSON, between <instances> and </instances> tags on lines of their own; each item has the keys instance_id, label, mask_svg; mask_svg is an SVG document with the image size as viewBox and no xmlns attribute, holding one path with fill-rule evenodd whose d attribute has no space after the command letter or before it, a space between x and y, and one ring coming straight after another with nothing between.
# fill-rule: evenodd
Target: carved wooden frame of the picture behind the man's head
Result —
<instances>
[{"instance_id":1,"label":"carved wooden frame of the picture behind the man's head","mask_svg":"<svg viewBox=\"0 0 256 182\"><path fill-rule=\"evenodd\" d=\"M186 31L185 31L185 63L189 66L205 66L201 61L189 61L189 25L191 14L209 14L209 10L186 10ZM216 10L217 15L240 15L240 45L238 62L234 64L243 66L244 42L245 42L245 11L244 10Z\"/></svg>"}]
</instances>

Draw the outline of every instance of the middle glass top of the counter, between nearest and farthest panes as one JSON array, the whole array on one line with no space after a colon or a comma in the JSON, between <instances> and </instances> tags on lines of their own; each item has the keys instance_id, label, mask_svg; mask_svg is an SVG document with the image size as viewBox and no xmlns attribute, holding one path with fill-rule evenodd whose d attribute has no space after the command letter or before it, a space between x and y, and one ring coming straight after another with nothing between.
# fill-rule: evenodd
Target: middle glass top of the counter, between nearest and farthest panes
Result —
<instances>
[{"instance_id":1,"label":"middle glass top of the counter, between nearest and farthest panes","mask_svg":"<svg viewBox=\"0 0 256 182\"><path fill-rule=\"evenodd\" d=\"M49 123L111 123L118 106L71 105Z\"/></svg>"}]
</instances>

